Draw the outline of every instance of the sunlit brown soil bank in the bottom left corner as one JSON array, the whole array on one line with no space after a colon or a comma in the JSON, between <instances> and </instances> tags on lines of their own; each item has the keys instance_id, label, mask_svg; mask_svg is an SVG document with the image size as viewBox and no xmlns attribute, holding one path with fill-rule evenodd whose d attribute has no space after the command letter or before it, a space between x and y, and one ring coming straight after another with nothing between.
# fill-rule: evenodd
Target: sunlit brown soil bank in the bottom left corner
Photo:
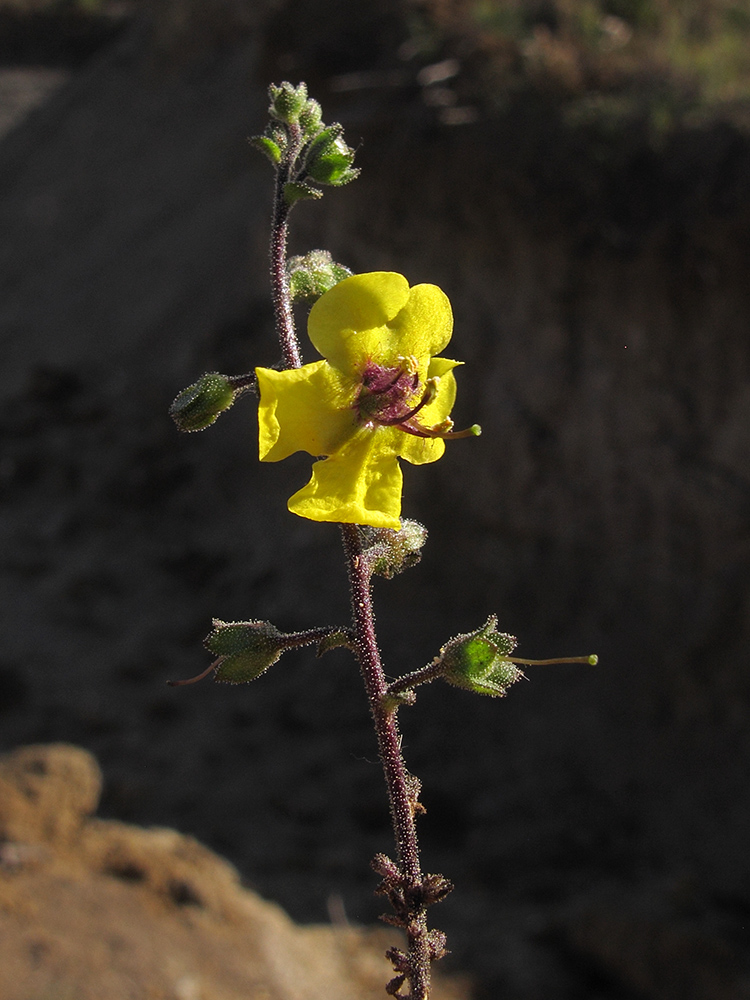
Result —
<instances>
[{"instance_id":1,"label":"sunlit brown soil bank in the bottom left corner","mask_svg":"<svg viewBox=\"0 0 750 1000\"><path fill-rule=\"evenodd\" d=\"M0 758L3 1000L375 1000L397 939L296 927L191 837L99 820L65 744ZM435 1000L465 988L435 985Z\"/></svg>"}]
</instances>

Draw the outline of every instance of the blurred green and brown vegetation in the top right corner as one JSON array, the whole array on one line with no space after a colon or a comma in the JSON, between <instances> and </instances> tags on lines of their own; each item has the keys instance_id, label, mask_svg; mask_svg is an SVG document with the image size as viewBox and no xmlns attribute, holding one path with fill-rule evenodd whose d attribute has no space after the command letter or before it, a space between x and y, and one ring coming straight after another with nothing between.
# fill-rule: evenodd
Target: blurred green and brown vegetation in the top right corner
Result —
<instances>
[{"instance_id":1,"label":"blurred green and brown vegetation in the top right corner","mask_svg":"<svg viewBox=\"0 0 750 1000\"><path fill-rule=\"evenodd\" d=\"M750 98L748 0L473 0L467 13L488 41L516 49L523 76L561 95L666 81L673 103L695 110Z\"/></svg>"}]
</instances>

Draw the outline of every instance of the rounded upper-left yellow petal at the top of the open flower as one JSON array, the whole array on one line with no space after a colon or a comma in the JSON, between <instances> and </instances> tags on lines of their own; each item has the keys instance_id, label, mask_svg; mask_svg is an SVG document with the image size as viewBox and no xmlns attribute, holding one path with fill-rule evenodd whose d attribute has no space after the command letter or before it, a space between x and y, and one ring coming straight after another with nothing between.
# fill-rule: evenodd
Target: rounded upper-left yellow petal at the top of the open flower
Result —
<instances>
[{"instance_id":1,"label":"rounded upper-left yellow petal at the top of the open flower","mask_svg":"<svg viewBox=\"0 0 750 1000\"><path fill-rule=\"evenodd\" d=\"M354 373L365 361L387 354L384 327L408 300L409 283L401 274L353 274L318 299L310 310L307 332L334 367Z\"/></svg>"}]
</instances>

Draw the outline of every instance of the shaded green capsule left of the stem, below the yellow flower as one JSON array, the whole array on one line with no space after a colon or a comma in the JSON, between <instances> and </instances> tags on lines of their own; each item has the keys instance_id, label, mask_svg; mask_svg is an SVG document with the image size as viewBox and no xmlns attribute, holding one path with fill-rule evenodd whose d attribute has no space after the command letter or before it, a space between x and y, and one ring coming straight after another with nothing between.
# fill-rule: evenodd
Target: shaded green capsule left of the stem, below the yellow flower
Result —
<instances>
[{"instance_id":1,"label":"shaded green capsule left of the stem, below the yellow flower","mask_svg":"<svg viewBox=\"0 0 750 1000\"><path fill-rule=\"evenodd\" d=\"M270 622L222 622L214 619L204 645L221 657L214 677L226 684L254 681L276 663L289 642Z\"/></svg>"}]
</instances>

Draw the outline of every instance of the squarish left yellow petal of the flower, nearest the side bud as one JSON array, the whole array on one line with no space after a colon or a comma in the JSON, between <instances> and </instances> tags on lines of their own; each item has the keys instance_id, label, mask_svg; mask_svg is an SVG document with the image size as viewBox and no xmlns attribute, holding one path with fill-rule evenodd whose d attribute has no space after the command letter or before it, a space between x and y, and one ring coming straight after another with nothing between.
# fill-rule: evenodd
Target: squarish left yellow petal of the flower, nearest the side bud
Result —
<instances>
[{"instance_id":1,"label":"squarish left yellow petal of the flower, nearest the side bud","mask_svg":"<svg viewBox=\"0 0 750 1000\"><path fill-rule=\"evenodd\" d=\"M278 462L295 451L330 455L356 431L354 386L326 361L255 372L261 462Z\"/></svg>"}]
</instances>

